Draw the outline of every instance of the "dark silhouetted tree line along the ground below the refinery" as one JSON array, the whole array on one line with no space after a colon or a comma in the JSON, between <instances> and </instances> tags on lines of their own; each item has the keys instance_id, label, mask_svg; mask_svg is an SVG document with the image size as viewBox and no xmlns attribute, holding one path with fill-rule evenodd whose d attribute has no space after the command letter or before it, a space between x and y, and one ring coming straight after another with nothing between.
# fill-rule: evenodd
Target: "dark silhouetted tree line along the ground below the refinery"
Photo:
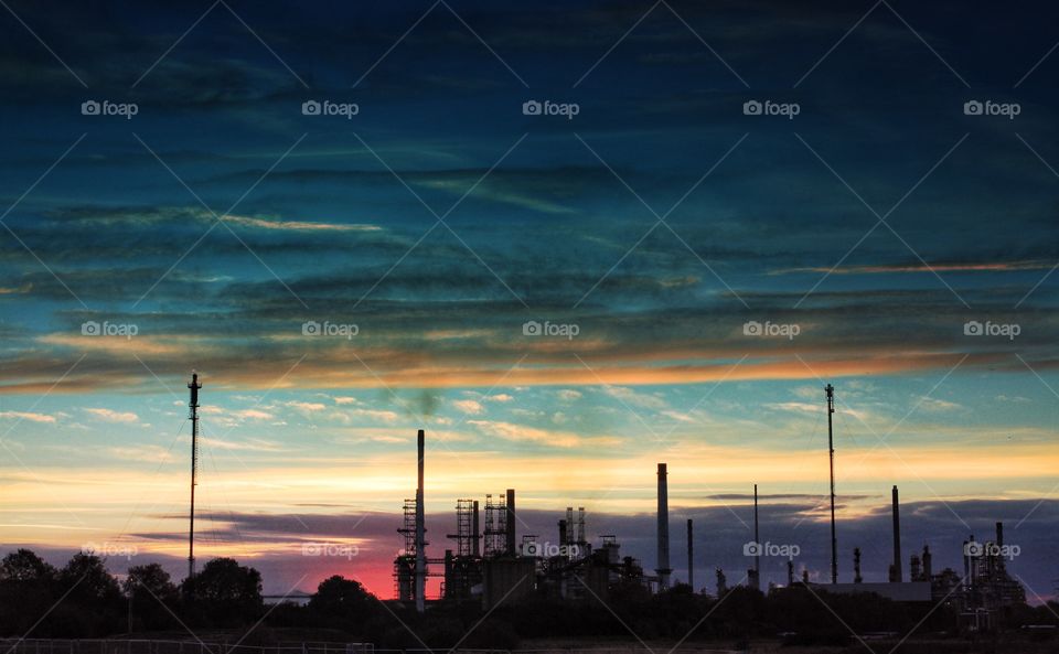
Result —
<instances>
[{"instance_id":1,"label":"dark silhouetted tree line along the ground below the refinery","mask_svg":"<svg viewBox=\"0 0 1059 654\"><path fill-rule=\"evenodd\" d=\"M233 634L245 644L278 640L345 640L378 647L514 648L527 639L686 642L782 637L791 644L848 644L856 633L953 633L958 608L919 607L876 594L830 596L800 587L762 593L736 587L720 598L676 585L651 593L639 583L612 586L598 598L547 596L483 612L477 601L439 602L425 615L383 601L359 581L333 576L304 605L266 605L261 575L232 558L215 558L180 583L159 564L132 566L120 581L106 561L78 553L55 568L29 549L0 560L0 636L106 637L188 630ZM1059 604L1020 605L1003 615L1008 628L1059 624ZM249 632L247 631L249 630ZM297 632L298 636L291 636ZM280 637L280 634L287 634Z\"/></svg>"}]
</instances>

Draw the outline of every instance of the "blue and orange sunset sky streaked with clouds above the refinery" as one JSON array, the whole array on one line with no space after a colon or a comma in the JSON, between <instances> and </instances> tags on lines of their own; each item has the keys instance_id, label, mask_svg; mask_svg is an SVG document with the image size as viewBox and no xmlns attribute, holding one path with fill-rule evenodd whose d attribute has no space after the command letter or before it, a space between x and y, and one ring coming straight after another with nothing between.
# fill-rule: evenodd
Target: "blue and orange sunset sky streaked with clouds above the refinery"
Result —
<instances>
[{"instance_id":1,"label":"blue and orange sunset sky streaked with clouds above the refinery","mask_svg":"<svg viewBox=\"0 0 1059 654\"><path fill-rule=\"evenodd\" d=\"M1003 521L1055 594L1055 8L3 9L0 550L180 578L196 371L196 555L268 593L391 597L420 428L431 557L515 487L652 569L667 462L676 578L757 483L823 581L830 383L843 580L898 485L906 557Z\"/></svg>"}]
</instances>

